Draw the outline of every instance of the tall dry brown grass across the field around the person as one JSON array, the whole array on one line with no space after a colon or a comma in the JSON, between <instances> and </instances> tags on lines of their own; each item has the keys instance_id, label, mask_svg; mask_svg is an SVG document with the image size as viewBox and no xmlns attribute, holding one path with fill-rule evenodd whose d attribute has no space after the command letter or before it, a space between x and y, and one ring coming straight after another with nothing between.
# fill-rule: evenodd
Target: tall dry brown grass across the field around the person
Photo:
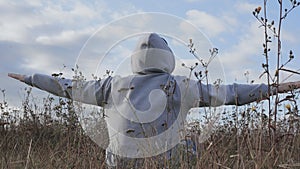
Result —
<instances>
[{"instance_id":1,"label":"tall dry brown grass across the field around the person","mask_svg":"<svg viewBox=\"0 0 300 169\"><path fill-rule=\"evenodd\" d=\"M1 168L106 168L104 150L84 134L74 117L72 102L48 97L44 105L38 107L30 100L30 89L25 93L23 107L18 112L22 115L18 119L14 115L16 112L9 110L8 103L1 101ZM211 136L197 145L197 159L187 160L183 150L173 162L149 158L138 167L300 168L299 117L287 113L278 123L278 138L274 144L270 142L269 137L273 135L269 133L268 120L261 113L263 110L256 106L238 109L233 106L224 111ZM136 166L128 163L117 166L132 167Z\"/></svg>"}]
</instances>

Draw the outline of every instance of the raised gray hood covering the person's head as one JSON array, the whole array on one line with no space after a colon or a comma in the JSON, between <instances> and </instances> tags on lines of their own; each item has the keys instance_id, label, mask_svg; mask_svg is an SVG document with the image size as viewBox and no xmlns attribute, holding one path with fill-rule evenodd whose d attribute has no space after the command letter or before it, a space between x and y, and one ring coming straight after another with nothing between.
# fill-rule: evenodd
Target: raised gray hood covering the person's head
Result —
<instances>
[{"instance_id":1,"label":"raised gray hood covering the person's head","mask_svg":"<svg viewBox=\"0 0 300 169\"><path fill-rule=\"evenodd\" d=\"M142 37L131 55L133 73L172 73L175 57L165 39L156 33Z\"/></svg>"}]
</instances>

